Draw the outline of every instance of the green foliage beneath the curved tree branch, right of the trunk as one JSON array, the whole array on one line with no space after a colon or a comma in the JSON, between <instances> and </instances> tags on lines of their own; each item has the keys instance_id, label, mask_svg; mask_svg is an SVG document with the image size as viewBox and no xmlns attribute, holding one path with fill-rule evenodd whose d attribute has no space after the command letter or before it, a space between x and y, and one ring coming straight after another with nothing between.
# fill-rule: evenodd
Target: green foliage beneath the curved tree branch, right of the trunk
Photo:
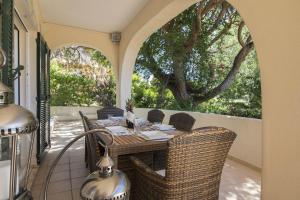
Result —
<instances>
[{"instance_id":1,"label":"green foliage beneath the curved tree branch, right of the trunk","mask_svg":"<svg viewBox=\"0 0 300 200\"><path fill-rule=\"evenodd\" d=\"M240 69L234 83L224 93L196 108L200 112L261 118L261 85L253 52ZM255 66L255 65L254 65Z\"/></svg>"}]
</instances>

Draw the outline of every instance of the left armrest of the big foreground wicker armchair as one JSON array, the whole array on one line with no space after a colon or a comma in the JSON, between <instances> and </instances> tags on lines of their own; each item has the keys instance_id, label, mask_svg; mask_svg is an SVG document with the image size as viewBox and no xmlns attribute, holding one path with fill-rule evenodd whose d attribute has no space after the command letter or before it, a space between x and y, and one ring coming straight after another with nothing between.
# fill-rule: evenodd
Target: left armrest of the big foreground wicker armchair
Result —
<instances>
[{"instance_id":1,"label":"left armrest of the big foreground wicker armchair","mask_svg":"<svg viewBox=\"0 0 300 200\"><path fill-rule=\"evenodd\" d=\"M151 182L158 182L162 185L166 185L165 177L156 173L153 169L151 169L148 165L146 165L140 159L130 156L130 160L134 165L134 168L144 176L146 179L150 180Z\"/></svg>"}]
</instances>

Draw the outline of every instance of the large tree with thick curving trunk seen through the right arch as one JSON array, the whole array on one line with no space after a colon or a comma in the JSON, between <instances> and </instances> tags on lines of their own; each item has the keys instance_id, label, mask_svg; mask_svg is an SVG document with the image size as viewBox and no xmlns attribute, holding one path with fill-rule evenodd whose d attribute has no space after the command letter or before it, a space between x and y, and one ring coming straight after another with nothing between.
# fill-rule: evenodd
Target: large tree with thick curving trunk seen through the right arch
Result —
<instances>
[{"instance_id":1,"label":"large tree with thick curving trunk seen through the right arch","mask_svg":"<svg viewBox=\"0 0 300 200\"><path fill-rule=\"evenodd\" d=\"M225 0L203 0L145 41L136 70L148 78L153 75L161 84L162 94L164 89L171 90L182 108L196 106L226 90L254 49L244 27L236 9ZM228 35L236 37L240 48L231 66L216 66L213 54L235 45L223 45ZM224 70L223 75L217 74L223 68L226 74Z\"/></svg>"}]
</instances>

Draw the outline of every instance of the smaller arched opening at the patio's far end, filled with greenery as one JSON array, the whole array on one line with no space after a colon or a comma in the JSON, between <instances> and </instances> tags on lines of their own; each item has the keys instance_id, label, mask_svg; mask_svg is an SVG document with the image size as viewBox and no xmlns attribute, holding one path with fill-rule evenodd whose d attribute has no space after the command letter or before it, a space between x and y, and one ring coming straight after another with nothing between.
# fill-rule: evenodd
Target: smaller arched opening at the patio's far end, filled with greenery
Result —
<instances>
[{"instance_id":1,"label":"smaller arched opening at the patio's far end, filled with greenery","mask_svg":"<svg viewBox=\"0 0 300 200\"><path fill-rule=\"evenodd\" d=\"M78 110L88 112L86 107L114 106L115 88L112 65L97 49L69 45L52 52L50 90L53 115L69 113L77 116Z\"/></svg>"}]
</instances>

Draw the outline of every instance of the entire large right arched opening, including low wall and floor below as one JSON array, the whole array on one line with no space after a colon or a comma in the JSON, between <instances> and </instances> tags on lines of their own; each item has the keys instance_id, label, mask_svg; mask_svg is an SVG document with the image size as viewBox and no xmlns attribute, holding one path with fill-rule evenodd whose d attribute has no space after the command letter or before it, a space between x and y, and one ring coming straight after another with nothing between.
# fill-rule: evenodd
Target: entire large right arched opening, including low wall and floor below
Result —
<instances>
[{"instance_id":1,"label":"entire large right arched opening, including low wall and floor below","mask_svg":"<svg viewBox=\"0 0 300 200\"><path fill-rule=\"evenodd\" d=\"M201 1L166 23L143 43L132 79L139 115L147 115L144 108L164 109L168 117L180 110L196 118L196 127L236 131L230 157L254 167L256 176L245 173L239 182L233 178L238 167L227 163L225 172L233 174L224 179L233 184L221 187L221 198L260 198L260 73L251 35L234 7Z\"/></svg>"}]
</instances>

